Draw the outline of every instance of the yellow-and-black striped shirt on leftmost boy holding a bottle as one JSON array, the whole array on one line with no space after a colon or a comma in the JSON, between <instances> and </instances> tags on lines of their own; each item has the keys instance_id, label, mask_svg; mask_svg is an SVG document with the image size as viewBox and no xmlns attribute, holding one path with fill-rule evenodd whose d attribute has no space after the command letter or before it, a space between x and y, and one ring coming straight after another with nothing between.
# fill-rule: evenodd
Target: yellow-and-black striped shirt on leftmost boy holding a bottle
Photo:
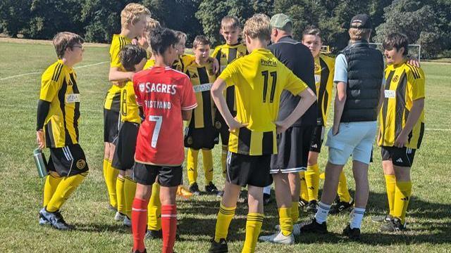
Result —
<instances>
[{"instance_id":1,"label":"yellow-and-black striped shirt on leftmost boy holding a bottle","mask_svg":"<svg viewBox=\"0 0 451 253\"><path fill-rule=\"evenodd\" d=\"M50 102L44 122L46 146L62 148L78 143L80 92L73 68L62 60L50 65L42 74L39 99Z\"/></svg>"}]
</instances>

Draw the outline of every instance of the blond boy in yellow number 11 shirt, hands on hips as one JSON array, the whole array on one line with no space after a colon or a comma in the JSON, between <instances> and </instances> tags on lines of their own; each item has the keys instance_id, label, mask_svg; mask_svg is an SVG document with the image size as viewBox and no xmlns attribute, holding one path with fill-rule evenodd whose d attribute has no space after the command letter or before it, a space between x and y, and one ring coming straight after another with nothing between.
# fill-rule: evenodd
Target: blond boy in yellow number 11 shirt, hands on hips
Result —
<instances>
[{"instance_id":1,"label":"blond boy in yellow number 11 shirt, hands on hips","mask_svg":"<svg viewBox=\"0 0 451 253\"><path fill-rule=\"evenodd\" d=\"M276 133L288 129L316 99L313 91L267 49L271 40L268 16L249 18L243 33L249 55L230 63L211 88L211 96L230 129L226 186L209 249L215 253L228 252L228 227L243 186L248 186L249 214L242 252L255 252L264 218L263 188L272 183L269 170L271 155L277 153ZM227 86L235 86L236 117L223 96ZM284 89L302 99L286 119L276 122Z\"/></svg>"}]
</instances>

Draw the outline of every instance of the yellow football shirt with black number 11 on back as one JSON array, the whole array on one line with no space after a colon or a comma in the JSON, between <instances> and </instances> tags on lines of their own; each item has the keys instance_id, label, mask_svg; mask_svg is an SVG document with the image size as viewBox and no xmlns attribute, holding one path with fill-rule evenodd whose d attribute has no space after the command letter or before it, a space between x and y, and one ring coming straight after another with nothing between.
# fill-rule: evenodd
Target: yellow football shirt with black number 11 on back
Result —
<instances>
[{"instance_id":1,"label":"yellow football shirt with black number 11 on back","mask_svg":"<svg viewBox=\"0 0 451 253\"><path fill-rule=\"evenodd\" d=\"M237 121L248 124L230 133L228 149L242 155L277 153L276 122L280 94L298 95L308 88L271 51L255 49L230 63L219 75L227 86L235 86Z\"/></svg>"}]
</instances>

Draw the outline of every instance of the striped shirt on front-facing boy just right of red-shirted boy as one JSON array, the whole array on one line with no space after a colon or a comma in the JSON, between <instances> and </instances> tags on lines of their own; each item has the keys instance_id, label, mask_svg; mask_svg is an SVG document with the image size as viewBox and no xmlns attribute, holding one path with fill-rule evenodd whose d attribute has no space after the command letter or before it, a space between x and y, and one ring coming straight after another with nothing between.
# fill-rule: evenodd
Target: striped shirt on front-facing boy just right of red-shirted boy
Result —
<instances>
[{"instance_id":1,"label":"striped shirt on front-facing boy just right of red-shirted boy","mask_svg":"<svg viewBox=\"0 0 451 253\"><path fill-rule=\"evenodd\" d=\"M213 64L207 63L199 66L195 61L186 66L185 73L190 77L194 93L196 94L197 108L194 108L190 120L190 127L195 129L214 126L214 101L211 98L211 85L216 80Z\"/></svg>"}]
</instances>

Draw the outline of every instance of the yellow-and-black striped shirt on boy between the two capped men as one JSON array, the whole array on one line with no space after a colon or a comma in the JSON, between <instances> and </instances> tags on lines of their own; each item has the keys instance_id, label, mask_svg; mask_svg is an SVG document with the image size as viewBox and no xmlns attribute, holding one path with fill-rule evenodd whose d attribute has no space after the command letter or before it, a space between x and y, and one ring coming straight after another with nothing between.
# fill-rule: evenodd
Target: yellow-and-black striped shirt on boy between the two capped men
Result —
<instances>
[{"instance_id":1,"label":"yellow-and-black striped shirt on boy between the two capped men","mask_svg":"<svg viewBox=\"0 0 451 253\"><path fill-rule=\"evenodd\" d=\"M315 84L318 98L318 124L326 126L328 108L332 100L335 59L320 54L315 58Z\"/></svg>"}]
</instances>

